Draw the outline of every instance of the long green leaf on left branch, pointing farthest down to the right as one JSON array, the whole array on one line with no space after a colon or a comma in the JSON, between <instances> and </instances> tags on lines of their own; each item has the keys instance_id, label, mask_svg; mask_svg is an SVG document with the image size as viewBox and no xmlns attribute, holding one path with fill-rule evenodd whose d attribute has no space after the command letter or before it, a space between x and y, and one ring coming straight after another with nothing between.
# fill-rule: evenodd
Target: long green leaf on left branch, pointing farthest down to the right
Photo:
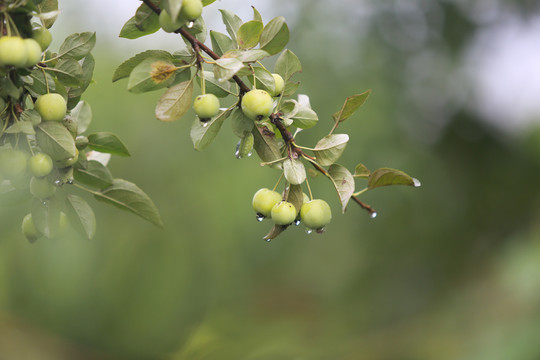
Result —
<instances>
[{"instance_id":1,"label":"long green leaf on left branch, pointing farthest down to the right","mask_svg":"<svg viewBox=\"0 0 540 360\"><path fill-rule=\"evenodd\" d=\"M123 179L114 179L113 184L100 192L94 193L97 200L129 211L163 227L159 211L152 199L137 185Z\"/></svg>"}]
</instances>

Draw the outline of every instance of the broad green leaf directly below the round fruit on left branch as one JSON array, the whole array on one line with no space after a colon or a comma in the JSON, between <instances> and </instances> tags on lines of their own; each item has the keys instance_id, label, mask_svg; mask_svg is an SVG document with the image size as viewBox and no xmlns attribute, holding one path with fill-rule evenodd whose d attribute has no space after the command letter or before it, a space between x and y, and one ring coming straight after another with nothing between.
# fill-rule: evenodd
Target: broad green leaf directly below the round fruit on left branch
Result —
<instances>
[{"instance_id":1,"label":"broad green leaf directly below the round fruit on left branch","mask_svg":"<svg viewBox=\"0 0 540 360\"><path fill-rule=\"evenodd\" d=\"M63 160L76 154L75 140L61 122L46 121L36 128L36 141L53 160Z\"/></svg>"}]
</instances>

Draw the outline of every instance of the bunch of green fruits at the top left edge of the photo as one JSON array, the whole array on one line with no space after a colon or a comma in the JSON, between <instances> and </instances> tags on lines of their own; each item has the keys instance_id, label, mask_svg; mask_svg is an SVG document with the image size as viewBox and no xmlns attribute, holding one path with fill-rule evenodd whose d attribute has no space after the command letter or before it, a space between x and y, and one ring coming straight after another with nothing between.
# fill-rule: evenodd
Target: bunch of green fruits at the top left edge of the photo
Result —
<instances>
[{"instance_id":1,"label":"bunch of green fruits at the top left edge of the photo","mask_svg":"<svg viewBox=\"0 0 540 360\"><path fill-rule=\"evenodd\" d=\"M49 30L38 27L32 30L32 37L23 39L19 36L0 38L0 66L27 68L41 61L52 41Z\"/></svg>"}]
</instances>

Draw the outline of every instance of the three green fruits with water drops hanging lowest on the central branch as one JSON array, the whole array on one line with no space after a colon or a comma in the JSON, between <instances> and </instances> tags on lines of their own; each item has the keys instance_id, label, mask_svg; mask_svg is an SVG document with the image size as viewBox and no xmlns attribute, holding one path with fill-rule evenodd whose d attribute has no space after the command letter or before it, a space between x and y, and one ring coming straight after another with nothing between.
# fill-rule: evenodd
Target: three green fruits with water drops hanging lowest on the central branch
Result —
<instances>
[{"instance_id":1,"label":"three green fruits with water drops hanging lowest on the central branch","mask_svg":"<svg viewBox=\"0 0 540 360\"><path fill-rule=\"evenodd\" d=\"M292 203L283 200L280 193L267 188L257 191L252 203L259 221L270 218L280 226L286 227L292 223L299 225L302 222L308 231L322 232L332 220L332 211L328 203L321 199L310 200L305 193L300 211Z\"/></svg>"}]
</instances>

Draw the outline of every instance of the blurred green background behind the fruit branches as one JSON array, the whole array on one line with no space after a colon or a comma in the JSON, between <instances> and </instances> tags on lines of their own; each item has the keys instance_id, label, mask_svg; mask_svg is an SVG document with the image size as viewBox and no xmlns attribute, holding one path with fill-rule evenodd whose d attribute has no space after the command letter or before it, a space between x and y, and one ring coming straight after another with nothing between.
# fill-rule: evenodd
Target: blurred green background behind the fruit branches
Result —
<instances>
[{"instance_id":1,"label":"blurred green background behind the fruit branches","mask_svg":"<svg viewBox=\"0 0 540 360\"><path fill-rule=\"evenodd\" d=\"M237 160L228 124L194 151L192 113L160 123L161 92L133 95L110 81L138 51L182 41L117 38L137 1L110 4L121 10L112 17L106 2L91 13L82 3L60 1L55 44L97 29L95 84L84 95L90 130L127 144L132 157L110 168L152 197L165 227L90 199L93 241L29 244L19 228L28 204L0 207L0 358L540 358L540 115L521 111L524 94L540 98L538 41L523 43L540 36L537 1L207 8L218 30L218 8L248 20L255 5L265 21L288 20L288 47L304 67L300 92L321 119L301 143L328 132L346 96L372 89L340 128L351 136L340 162L399 168L422 182L363 196L378 211L372 220L355 204L339 214L331 185L316 178L334 212L326 234L299 227L271 243L251 198L278 173L255 157Z\"/></svg>"}]
</instances>

